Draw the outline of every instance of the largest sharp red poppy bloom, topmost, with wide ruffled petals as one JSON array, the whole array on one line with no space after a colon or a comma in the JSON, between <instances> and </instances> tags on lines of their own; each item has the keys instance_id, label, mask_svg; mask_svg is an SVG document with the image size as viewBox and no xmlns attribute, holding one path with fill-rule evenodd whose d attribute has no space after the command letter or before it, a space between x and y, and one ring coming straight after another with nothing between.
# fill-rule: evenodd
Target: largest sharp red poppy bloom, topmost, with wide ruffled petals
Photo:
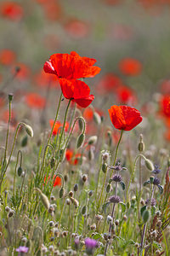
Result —
<instances>
[{"instance_id":1,"label":"largest sharp red poppy bloom, topmost, with wide ruffled petals","mask_svg":"<svg viewBox=\"0 0 170 256\"><path fill-rule=\"evenodd\" d=\"M49 61L44 64L46 73L53 73L59 79L81 79L92 78L100 72L99 67L95 67L96 60L88 57L81 57L75 51L71 54L54 54Z\"/></svg>"}]
</instances>

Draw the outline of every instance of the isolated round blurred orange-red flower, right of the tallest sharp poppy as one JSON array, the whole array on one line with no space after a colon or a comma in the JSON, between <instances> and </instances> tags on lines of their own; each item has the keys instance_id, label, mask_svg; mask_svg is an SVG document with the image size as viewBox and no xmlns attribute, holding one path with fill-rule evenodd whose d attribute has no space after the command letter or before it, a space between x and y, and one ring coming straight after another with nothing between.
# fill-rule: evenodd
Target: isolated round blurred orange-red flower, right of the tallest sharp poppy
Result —
<instances>
[{"instance_id":1,"label":"isolated round blurred orange-red flower, right of the tallest sharp poppy","mask_svg":"<svg viewBox=\"0 0 170 256\"><path fill-rule=\"evenodd\" d=\"M136 59L125 58L120 61L119 68L124 75L136 76L141 73L142 64Z\"/></svg>"}]
</instances>

